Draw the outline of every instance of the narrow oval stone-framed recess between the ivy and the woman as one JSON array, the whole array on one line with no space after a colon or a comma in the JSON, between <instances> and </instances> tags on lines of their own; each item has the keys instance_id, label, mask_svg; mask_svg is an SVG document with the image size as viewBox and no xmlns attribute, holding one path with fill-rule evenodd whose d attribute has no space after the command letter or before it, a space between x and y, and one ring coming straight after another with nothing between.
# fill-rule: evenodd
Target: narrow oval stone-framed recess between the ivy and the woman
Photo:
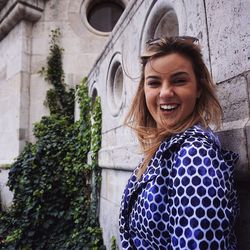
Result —
<instances>
[{"instance_id":1,"label":"narrow oval stone-framed recess between the ivy and the woman","mask_svg":"<svg viewBox=\"0 0 250 250\"><path fill-rule=\"evenodd\" d=\"M123 104L123 70L120 54L116 54L108 70L107 101L113 116L117 116Z\"/></svg>"}]
</instances>

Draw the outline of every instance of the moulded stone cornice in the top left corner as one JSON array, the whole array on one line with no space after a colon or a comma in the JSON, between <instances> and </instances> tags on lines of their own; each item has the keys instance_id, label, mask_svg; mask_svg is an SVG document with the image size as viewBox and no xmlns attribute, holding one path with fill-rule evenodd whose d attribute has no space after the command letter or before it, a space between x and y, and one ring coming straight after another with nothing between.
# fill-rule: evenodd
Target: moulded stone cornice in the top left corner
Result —
<instances>
[{"instance_id":1,"label":"moulded stone cornice in the top left corner","mask_svg":"<svg viewBox=\"0 0 250 250\"><path fill-rule=\"evenodd\" d=\"M0 0L0 41L22 20L36 22L46 0Z\"/></svg>"}]
</instances>

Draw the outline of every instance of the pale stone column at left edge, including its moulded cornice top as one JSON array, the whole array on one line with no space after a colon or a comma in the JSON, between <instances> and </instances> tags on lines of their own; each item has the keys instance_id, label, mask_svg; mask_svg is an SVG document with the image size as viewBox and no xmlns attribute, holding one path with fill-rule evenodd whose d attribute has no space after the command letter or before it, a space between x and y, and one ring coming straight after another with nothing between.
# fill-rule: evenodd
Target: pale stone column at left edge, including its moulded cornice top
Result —
<instances>
[{"instance_id":1,"label":"pale stone column at left edge, including its moulded cornice top","mask_svg":"<svg viewBox=\"0 0 250 250\"><path fill-rule=\"evenodd\" d=\"M1 1L0 167L10 164L28 138L32 25L44 0Z\"/></svg>"}]
</instances>

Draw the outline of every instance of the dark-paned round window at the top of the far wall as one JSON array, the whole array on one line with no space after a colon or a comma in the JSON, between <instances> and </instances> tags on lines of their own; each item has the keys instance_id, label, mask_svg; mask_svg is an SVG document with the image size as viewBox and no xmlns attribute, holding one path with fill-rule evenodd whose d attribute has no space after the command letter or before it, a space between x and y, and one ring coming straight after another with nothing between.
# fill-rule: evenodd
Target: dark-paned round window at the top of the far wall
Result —
<instances>
[{"instance_id":1,"label":"dark-paned round window at the top of the far wall","mask_svg":"<svg viewBox=\"0 0 250 250\"><path fill-rule=\"evenodd\" d=\"M118 1L95 1L87 11L88 23L101 32L111 32L124 11Z\"/></svg>"}]
</instances>

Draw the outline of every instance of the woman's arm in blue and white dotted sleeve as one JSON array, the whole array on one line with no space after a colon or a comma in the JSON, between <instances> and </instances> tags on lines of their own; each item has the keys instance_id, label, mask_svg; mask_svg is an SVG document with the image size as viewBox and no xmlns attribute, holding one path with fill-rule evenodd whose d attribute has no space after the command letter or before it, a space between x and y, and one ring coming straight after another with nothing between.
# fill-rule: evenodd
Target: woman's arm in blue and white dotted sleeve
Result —
<instances>
[{"instance_id":1,"label":"woman's arm in blue and white dotted sleeve","mask_svg":"<svg viewBox=\"0 0 250 250\"><path fill-rule=\"evenodd\" d=\"M176 154L169 182L173 249L234 249L235 191L216 146L195 142Z\"/></svg>"}]
</instances>

